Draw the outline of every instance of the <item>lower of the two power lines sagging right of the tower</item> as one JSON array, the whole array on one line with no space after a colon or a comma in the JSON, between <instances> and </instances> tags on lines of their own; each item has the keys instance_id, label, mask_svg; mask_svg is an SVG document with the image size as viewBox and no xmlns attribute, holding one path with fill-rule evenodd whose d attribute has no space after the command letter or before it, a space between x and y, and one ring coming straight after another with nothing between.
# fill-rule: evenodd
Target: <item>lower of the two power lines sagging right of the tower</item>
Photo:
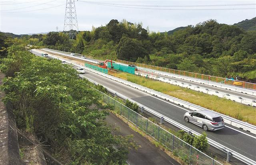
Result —
<instances>
[{"instance_id":1,"label":"lower of the two power lines sagging right of the tower","mask_svg":"<svg viewBox=\"0 0 256 165\"><path fill-rule=\"evenodd\" d=\"M119 8L133 8L133 9L145 9L145 10L252 10L256 8L198 8L198 9L177 9L177 8L136 8L136 7L129 7L129 6L116 6L116 5L111 5L111 4L102 4L98 2L88 2L88 1L82 1L85 3L90 3L90 4L97 4L97 5L102 5L102 6L112 6L112 7L119 7Z\"/></svg>"}]
</instances>

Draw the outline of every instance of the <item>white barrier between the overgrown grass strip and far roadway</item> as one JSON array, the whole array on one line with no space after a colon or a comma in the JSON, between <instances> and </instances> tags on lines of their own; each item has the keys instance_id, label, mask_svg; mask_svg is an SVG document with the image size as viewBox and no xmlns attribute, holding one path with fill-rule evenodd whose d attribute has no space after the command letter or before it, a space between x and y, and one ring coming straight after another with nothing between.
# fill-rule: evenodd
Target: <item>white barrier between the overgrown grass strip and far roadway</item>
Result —
<instances>
[{"instance_id":1,"label":"white barrier between the overgrown grass strip and far roadway","mask_svg":"<svg viewBox=\"0 0 256 165\"><path fill-rule=\"evenodd\" d=\"M144 77L147 77L147 78L152 78L154 80L158 80L158 81L161 81L161 82L166 82L166 83L170 83L170 84L173 84L173 85L178 85L180 87L186 87L188 89L192 89L192 90L195 90L195 91L200 91L200 92L203 92L203 93L206 93L206 94L216 95L216 96L221 97L221 98L230 99L230 100L236 101L238 103L242 103L242 104L246 104L246 105L256 107L256 101L254 99L244 98L244 97L240 97L238 95L232 95L232 94L224 93L222 91L216 91L216 90L213 90L213 89L208 89L206 87L200 87L200 85L193 85L193 84L189 84L189 83L179 82L179 81L176 81L176 80L170 80L170 79L167 79L167 78L160 77L160 75L154 76L152 74L147 74L147 73L140 72L140 70L136 71L135 74L139 75L139 76L144 76Z\"/></svg>"}]
</instances>

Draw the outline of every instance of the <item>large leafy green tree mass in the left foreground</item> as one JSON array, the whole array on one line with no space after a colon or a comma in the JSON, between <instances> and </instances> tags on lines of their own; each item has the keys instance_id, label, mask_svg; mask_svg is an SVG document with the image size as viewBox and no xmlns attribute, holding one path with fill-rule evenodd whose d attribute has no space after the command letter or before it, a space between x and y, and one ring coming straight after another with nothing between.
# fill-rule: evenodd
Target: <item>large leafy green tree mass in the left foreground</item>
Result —
<instances>
[{"instance_id":1,"label":"large leafy green tree mass in the left foreground","mask_svg":"<svg viewBox=\"0 0 256 165\"><path fill-rule=\"evenodd\" d=\"M12 73L1 85L2 100L12 103L18 128L47 141L64 164L124 164L135 144L131 136L111 134L103 121L108 113L98 110L101 97L92 84L79 79L71 66L24 49L12 45L0 65L2 72Z\"/></svg>"}]
</instances>

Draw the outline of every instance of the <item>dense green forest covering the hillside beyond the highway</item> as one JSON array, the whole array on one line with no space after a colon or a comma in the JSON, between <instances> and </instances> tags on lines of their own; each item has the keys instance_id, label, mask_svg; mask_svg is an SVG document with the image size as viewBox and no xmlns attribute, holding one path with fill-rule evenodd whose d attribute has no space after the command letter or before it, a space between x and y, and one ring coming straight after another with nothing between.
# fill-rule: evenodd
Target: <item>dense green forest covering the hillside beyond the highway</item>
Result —
<instances>
[{"instance_id":1,"label":"dense green forest covering the hillside beyond the highway","mask_svg":"<svg viewBox=\"0 0 256 165\"><path fill-rule=\"evenodd\" d=\"M249 23L242 26L251 27ZM169 34L150 32L142 28L142 23L110 20L106 26L79 32L75 40L69 40L62 32L26 38L32 45L93 58L128 60L220 77L240 76L256 82L256 31L216 20Z\"/></svg>"}]
</instances>

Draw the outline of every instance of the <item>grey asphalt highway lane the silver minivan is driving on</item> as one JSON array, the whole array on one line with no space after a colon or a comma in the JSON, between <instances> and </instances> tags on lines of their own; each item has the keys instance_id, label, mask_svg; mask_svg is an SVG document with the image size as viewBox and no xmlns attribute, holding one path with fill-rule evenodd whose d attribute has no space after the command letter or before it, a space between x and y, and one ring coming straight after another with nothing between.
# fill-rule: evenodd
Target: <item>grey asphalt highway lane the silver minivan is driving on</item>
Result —
<instances>
[{"instance_id":1,"label":"grey asphalt highway lane the silver minivan is driving on","mask_svg":"<svg viewBox=\"0 0 256 165\"><path fill-rule=\"evenodd\" d=\"M145 93L143 91L139 91L138 89L129 87L122 83L115 82L113 80L109 80L103 76L99 76L98 74L94 74L92 72L86 71L86 74L82 74L84 77L94 80L110 89L117 91L123 95L126 95L130 99L137 101L157 111L162 113L166 117L173 119L181 123L182 125L197 131L198 133L202 133L203 129L192 124L186 123L183 119L183 115L188 109L171 103L169 101L162 100L158 97ZM226 124L227 125L227 124ZM238 130L236 127L232 127L231 125L227 125L224 129L218 131L208 131L207 137L210 139L256 161L256 136L252 133L248 133L243 130Z\"/></svg>"}]
</instances>

